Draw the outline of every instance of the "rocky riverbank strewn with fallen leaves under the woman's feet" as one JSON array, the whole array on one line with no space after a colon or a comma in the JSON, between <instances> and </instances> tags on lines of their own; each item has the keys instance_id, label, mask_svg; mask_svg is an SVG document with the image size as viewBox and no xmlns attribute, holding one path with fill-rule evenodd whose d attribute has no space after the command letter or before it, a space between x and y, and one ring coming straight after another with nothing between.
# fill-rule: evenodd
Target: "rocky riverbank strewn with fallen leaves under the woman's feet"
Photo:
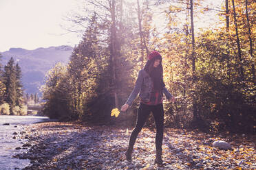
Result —
<instances>
[{"instance_id":1,"label":"rocky riverbank strewn with fallen leaves under the woman's feet","mask_svg":"<svg viewBox=\"0 0 256 170\"><path fill-rule=\"evenodd\" d=\"M28 169L256 169L255 136L218 136L166 129L164 167L153 165L156 133L144 128L134 146L133 160L125 160L131 129L47 122L24 127L29 149L16 158L28 158ZM226 137L225 137L226 136ZM213 147L217 140L231 149Z\"/></svg>"}]
</instances>

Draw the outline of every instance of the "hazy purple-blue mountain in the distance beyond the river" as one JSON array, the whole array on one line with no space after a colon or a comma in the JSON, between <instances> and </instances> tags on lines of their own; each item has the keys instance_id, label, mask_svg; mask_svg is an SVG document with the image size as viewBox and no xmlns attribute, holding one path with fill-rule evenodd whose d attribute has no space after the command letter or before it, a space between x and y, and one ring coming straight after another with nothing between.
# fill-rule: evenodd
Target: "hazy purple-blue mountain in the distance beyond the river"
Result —
<instances>
[{"instance_id":1,"label":"hazy purple-blue mountain in the distance beyond the river","mask_svg":"<svg viewBox=\"0 0 256 170\"><path fill-rule=\"evenodd\" d=\"M10 48L1 53L2 65L5 66L10 58L19 63L22 71L22 82L25 93L39 93L39 88L44 83L45 73L57 62L67 63L73 48L67 45L49 48L27 50Z\"/></svg>"}]
</instances>

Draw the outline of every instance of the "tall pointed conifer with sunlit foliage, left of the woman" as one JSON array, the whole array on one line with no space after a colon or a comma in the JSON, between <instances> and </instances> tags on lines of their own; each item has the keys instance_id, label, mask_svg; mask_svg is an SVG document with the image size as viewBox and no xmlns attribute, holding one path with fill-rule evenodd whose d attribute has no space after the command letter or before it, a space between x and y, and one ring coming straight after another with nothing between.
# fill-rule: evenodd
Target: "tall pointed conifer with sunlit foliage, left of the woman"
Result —
<instances>
[{"instance_id":1,"label":"tall pointed conifer with sunlit foliage, left of the woman","mask_svg":"<svg viewBox=\"0 0 256 170\"><path fill-rule=\"evenodd\" d=\"M72 112L76 117L84 115L87 103L96 95L96 77L100 77L103 67L107 64L105 47L99 45L100 27L96 13L89 19L89 25L83 40L74 49L68 64L68 77L70 77L70 94L72 95ZM109 77L109 75L106 75ZM107 79L108 80L108 79ZM107 80L104 83L105 86ZM103 89L104 89L103 88ZM88 118L88 117L87 117Z\"/></svg>"}]
</instances>

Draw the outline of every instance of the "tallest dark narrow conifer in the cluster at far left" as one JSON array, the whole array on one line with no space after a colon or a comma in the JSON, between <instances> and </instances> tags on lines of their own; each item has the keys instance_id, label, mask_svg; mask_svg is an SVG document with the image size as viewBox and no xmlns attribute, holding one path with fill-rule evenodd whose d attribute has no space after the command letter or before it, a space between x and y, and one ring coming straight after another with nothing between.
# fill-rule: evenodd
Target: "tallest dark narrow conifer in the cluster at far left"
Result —
<instances>
[{"instance_id":1,"label":"tallest dark narrow conifer in the cluster at far left","mask_svg":"<svg viewBox=\"0 0 256 170\"><path fill-rule=\"evenodd\" d=\"M10 58L8 64L4 66L4 84L6 85L5 101L10 106L10 114L13 114L12 109L16 106L17 91L16 91L16 71L14 68L14 60Z\"/></svg>"}]
</instances>

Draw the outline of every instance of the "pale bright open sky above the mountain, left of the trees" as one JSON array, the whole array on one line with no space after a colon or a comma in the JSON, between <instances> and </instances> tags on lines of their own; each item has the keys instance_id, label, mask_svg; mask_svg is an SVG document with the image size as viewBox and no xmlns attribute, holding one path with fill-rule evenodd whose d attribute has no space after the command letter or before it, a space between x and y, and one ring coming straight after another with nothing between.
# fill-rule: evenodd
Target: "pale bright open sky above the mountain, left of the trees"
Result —
<instances>
[{"instance_id":1,"label":"pale bright open sky above the mountain, left of the trees","mask_svg":"<svg viewBox=\"0 0 256 170\"><path fill-rule=\"evenodd\" d=\"M80 37L65 34L61 25L76 5L74 0L0 0L0 51L11 47L74 47Z\"/></svg>"}]
</instances>

